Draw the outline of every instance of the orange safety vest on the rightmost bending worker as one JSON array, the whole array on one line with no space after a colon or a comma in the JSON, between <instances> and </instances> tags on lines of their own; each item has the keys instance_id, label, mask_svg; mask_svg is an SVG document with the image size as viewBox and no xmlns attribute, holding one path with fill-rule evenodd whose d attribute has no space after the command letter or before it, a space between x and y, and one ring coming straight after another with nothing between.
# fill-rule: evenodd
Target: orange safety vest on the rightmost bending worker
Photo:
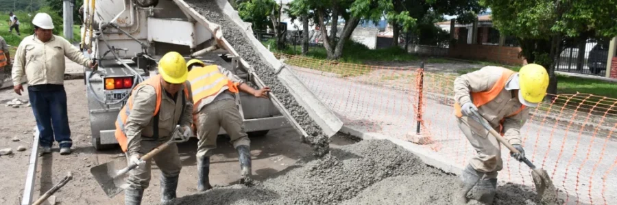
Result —
<instances>
[{"instance_id":1,"label":"orange safety vest on the rightmost bending worker","mask_svg":"<svg viewBox=\"0 0 617 205\"><path fill-rule=\"evenodd\" d=\"M476 107L481 107L482 105L486 105L488 102L491 102L492 100L494 100L499 95L499 93L505 88L505 84L508 82L508 79L510 79L510 77L513 74L516 74L516 72L509 70L507 68L500 68L500 69L503 69L503 73L501 74L501 77L495 83L495 85L491 87L491 90L471 93L472 102L474 103L474 105L476 105ZM457 115L457 118L463 117L463 113L461 112L461 105L459 105L459 102L455 102L454 107L455 107L455 115ZM521 105L517 111L507 115L505 118L518 115L518 113L520 113L523 109L525 109L525 105ZM499 121L499 133L501 133L502 136L504 135L503 122L505 121L505 118Z\"/></svg>"}]
</instances>

